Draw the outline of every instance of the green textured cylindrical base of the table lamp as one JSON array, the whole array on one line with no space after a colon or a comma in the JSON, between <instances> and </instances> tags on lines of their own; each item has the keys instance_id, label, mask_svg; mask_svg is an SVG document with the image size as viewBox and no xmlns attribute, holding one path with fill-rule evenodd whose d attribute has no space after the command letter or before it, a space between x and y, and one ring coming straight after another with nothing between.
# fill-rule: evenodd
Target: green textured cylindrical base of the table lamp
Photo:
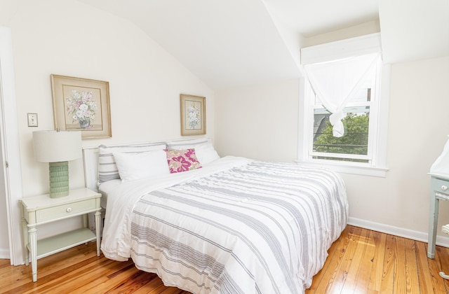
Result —
<instances>
[{"instance_id":1,"label":"green textured cylindrical base of the table lamp","mask_svg":"<svg viewBox=\"0 0 449 294\"><path fill-rule=\"evenodd\" d=\"M50 162L50 197L69 195L69 162Z\"/></svg>"}]
</instances>

